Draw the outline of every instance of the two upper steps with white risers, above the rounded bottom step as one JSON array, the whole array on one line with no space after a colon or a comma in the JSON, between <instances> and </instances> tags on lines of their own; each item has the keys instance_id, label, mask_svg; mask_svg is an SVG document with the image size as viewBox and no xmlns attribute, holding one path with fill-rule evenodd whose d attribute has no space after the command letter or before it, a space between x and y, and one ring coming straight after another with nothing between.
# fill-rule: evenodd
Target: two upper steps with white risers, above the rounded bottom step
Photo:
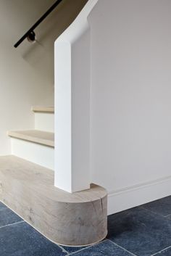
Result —
<instances>
[{"instance_id":1,"label":"two upper steps with white risers, above the rounded bottom step","mask_svg":"<svg viewBox=\"0 0 171 256\"><path fill-rule=\"evenodd\" d=\"M8 132L12 154L54 170L54 107L32 107L32 110L34 130Z\"/></svg>"}]
</instances>

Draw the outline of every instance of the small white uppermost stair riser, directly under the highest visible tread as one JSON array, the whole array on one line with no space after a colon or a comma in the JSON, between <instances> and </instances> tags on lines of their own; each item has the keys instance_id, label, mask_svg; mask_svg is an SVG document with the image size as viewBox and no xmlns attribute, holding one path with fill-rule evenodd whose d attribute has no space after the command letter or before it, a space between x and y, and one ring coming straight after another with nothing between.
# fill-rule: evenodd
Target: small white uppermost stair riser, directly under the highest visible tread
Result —
<instances>
[{"instance_id":1,"label":"small white uppermost stair riser, directly under the highest visible tread","mask_svg":"<svg viewBox=\"0 0 171 256\"><path fill-rule=\"evenodd\" d=\"M54 113L35 113L35 129L54 133Z\"/></svg>"}]
</instances>

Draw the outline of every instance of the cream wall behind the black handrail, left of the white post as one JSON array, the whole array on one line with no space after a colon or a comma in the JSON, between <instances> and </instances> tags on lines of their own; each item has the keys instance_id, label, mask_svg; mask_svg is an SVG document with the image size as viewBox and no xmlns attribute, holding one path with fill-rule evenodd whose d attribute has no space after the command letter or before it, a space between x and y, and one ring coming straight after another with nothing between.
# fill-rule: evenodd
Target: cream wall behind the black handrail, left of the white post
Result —
<instances>
[{"instance_id":1,"label":"cream wall behind the black handrail, left of the white post","mask_svg":"<svg viewBox=\"0 0 171 256\"><path fill-rule=\"evenodd\" d=\"M38 43L13 45L54 0L0 1L0 155L10 153L8 130L34 126L32 105L54 104L54 40L87 0L62 1L37 29Z\"/></svg>"}]
</instances>

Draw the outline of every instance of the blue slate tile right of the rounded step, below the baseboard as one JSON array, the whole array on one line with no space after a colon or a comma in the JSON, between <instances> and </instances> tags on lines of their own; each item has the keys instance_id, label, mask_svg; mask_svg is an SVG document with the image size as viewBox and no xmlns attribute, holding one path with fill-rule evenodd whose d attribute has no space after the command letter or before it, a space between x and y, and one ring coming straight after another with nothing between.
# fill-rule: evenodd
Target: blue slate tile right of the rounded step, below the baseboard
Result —
<instances>
[{"instance_id":1,"label":"blue slate tile right of the rounded step, below the baseboard","mask_svg":"<svg viewBox=\"0 0 171 256\"><path fill-rule=\"evenodd\" d=\"M171 245L171 220L140 207L110 215L108 232L109 239L137 256Z\"/></svg>"}]
</instances>

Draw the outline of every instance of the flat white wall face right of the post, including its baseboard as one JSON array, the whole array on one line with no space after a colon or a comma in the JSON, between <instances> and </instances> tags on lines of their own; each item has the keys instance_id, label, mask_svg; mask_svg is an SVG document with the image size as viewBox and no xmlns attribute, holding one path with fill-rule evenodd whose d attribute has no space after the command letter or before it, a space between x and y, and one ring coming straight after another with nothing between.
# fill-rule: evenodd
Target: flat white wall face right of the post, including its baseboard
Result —
<instances>
[{"instance_id":1,"label":"flat white wall face right of the post, including its baseboard","mask_svg":"<svg viewBox=\"0 0 171 256\"><path fill-rule=\"evenodd\" d=\"M171 193L171 1L91 12L91 181L109 213Z\"/></svg>"}]
</instances>

